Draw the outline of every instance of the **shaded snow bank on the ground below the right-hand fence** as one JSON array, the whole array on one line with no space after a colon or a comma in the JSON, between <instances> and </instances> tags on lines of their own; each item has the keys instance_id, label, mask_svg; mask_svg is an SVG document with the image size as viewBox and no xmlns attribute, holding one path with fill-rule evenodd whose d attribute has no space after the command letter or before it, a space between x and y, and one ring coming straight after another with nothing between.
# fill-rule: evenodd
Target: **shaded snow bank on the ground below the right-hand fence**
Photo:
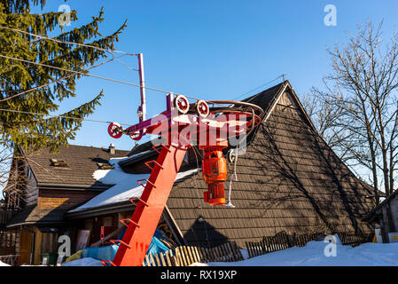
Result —
<instances>
[{"instance_id":1,"label":"shaded snow bank on the ground below the right-hand fence","mask_svg":"<svg viewBox=\"0 0 398 284\"><path fill-rule=\"evenodd\" d=\"M337 245L336 256L325 256L324 241L310 241L305 247L286 248L235 263L210 266L398 266L398 243L364 243L355 248Z\"/></svg>"}]
</instances>

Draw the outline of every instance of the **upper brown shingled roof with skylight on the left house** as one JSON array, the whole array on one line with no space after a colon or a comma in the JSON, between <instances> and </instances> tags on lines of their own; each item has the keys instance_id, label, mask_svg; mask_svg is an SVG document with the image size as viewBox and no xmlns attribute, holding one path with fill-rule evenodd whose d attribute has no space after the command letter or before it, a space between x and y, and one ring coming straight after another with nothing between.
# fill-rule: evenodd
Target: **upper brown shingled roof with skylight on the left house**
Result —
<instances>
[{"instance_id":1,"label":"upper brown shingled roof with skylight on the left house","mask_svg":"<svg viewBox=\"0 0 398 284\"><path fill-rule=\"evenodd\" d=\"M116 150L115 154L110 154L107 148L69 145L60 149L59 154L51 154L48 149L43 149L26 156L39 186L105 189L109 185L92 177L92 173L98 170L97 163L106 163L110 158L127 154L129 151ZM63 160L67 163L67 168L54 167L51 159Z\"/></svg>"}]
</instances>

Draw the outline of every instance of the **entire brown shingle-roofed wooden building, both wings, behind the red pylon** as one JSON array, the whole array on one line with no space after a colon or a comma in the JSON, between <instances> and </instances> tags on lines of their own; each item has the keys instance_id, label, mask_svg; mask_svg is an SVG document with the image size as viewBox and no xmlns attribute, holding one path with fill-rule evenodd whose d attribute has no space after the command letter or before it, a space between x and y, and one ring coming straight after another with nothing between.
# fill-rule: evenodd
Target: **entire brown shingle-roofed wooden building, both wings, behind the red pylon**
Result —
<instances>
[{"instance_id":1,"label":"entire brown shingle-roofed wooden building, both wings, behind the red pylon","mask_svg":"<svg viewBox=\"0 0 398 284\"><path fill-rule=\"evenodd\" d=\"M247 138L246 153L238 156L238 179L232 180L231 186L230 179L225 183L227 196L231 188L234 207L212 207L203 201L207 185L201 176L201 154L192 147L180 170L189 174L176 180L159 228L177 243L203 247L226 241L244 247L246 241L260 241L281 231L370 233L363 217L373 208L371 186L355 177L318 135L291 84L279 83L246 101L261 106L265 114ZM26 226L35 231L35 262L44 243L49 243L46 240L56 237L44 227L59 227L59 233L70 235L77 229L90 229L92 241L97 241L101 228L115 230L121 226L119 219L129 217L135 209L129 199L93 202L104 200L114 186L92 177L99 169L98 162L106 164L111 157L129 156L118 165L136 178L149 174L144 162L157 154L148 142L113 155L105 149L69 146L58 156L44 151L29 158L27 165L35 186L27 186L26 207L7 228ZM51 159L66 162L69 169L51 165ZM230 174L234 166L229 162ZM27 242L20 241L20 248ZM54 242L51 245L55 246Z\"/></svg>"}]
</instances>

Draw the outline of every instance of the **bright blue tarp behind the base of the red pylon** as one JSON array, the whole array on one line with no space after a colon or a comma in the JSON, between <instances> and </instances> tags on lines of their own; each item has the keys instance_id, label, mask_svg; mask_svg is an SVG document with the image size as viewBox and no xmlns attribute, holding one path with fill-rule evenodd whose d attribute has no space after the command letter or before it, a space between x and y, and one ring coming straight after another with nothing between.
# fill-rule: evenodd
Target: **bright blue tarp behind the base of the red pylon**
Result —
<instances>
[{"instance_id":1,"label":"bright blue tarp behind the base of the red pylon","mask_svg":"<svg viewBox=\"0 0 398 284\"><path fill-rule=\"evenodd\" d=\"M121 235L119 236L119 240L123 238L124 230ZM163 238L163 233L161 233L158 229L156 229L152 241L149 244L148 251L146 252L147 255L149 254L158 254L160 252L165 252L169 248L160 241ZM119 246L111 245L105 246L100 248L83 248L82 249L82 258L83 257L92 257L98 260L113 260L113 257L116 255L116 251L118 250Z\"/></svg>"}]
</instances>

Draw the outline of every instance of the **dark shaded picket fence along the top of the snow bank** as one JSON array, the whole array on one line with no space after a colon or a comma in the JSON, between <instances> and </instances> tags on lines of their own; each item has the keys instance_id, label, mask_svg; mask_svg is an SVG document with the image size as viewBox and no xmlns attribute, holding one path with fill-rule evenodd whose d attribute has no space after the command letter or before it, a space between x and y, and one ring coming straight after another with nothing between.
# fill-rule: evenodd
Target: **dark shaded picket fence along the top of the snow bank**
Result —
<instances>
[{"instance_id":1,"label":"dark shaded picket fence along the top of the snow bank","mask_svg":"<svg viewBox=\"0 0 398 284\"><path fill-rule=\"evenodd\" d=\"M357 235L355 233L338 233L343 245L357 246L364 242L370 242L373 233ZM273 237L263 237L262 241L246 241L246 248L249 258L261 256L292 247L304 247L308 241L324 241L324 233L288 235L285 231L277 233Z\"/></svg>"}]
</instances>

